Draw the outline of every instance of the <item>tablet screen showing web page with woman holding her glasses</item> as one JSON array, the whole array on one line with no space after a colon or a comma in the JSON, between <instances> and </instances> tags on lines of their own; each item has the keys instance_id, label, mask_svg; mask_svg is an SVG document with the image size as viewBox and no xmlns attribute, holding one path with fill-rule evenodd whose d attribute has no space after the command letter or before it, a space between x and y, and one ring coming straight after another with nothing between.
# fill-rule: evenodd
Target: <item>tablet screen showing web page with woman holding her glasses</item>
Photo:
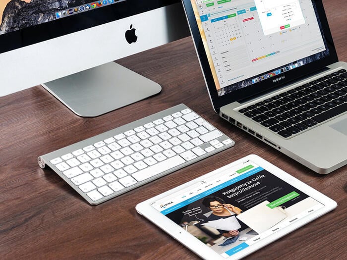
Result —
<instances>
[{"instance_id":1,"label":"tablet screen showing web page with woman holding her glasses","mask_svg":"<svg viewBox=\"0 0 347 260\"><path fill-rule=\"evenodd\" d=\"M324 207L254 161L222 169L151 204L222 257Z\"/></svg>"}]
</instances>

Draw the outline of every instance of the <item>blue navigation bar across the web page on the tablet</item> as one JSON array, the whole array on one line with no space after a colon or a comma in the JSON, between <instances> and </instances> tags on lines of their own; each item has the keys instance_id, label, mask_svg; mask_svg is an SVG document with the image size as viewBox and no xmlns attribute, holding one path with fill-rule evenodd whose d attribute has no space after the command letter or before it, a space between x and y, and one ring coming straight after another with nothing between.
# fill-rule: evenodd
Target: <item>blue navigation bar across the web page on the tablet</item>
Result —
<instances>
[{"instance_id":1,"label":"blue navigation bar across the web page on the tablet","mask_svg":"<svg viewBox=\"0 0 347 260\"><path fill-rule=\"evenodd\" d=\"M183 202L181 202L179 204L176 204L173 207L167 208L167 209L161 211L161 213L164 214L164 215L167 215L167 214L177 210L178 208L183 208L184 206L187 206L187 205L189 205L189 204L191 204L193 202L201 200L201 199L205 198L206 196L208 196L208 195L210 195L210 194L212 194L214 192L217 192L217 191L220 191L220 190L222 190L222 189L224 189L226 187L229 187L230 185L232 185L232 184L234 184L234 183L236 183L238 181L241 181L241 180L243 180L243 179L245 179L245 178L247 178L247 177L249 177L249 176L251 176L253 174L256 174L256 173L258 173L259 171L262 171L262 170L263 170L262 167L257 167L255 169L250 170L250 171L248 171L246 173L243 173L242 175L240 175L240 176L238 176L236 178L233 178L233 179L231 179L231 180L229 180L229 181L227 181L227 182L225 182L223 184L220 184L220 185L218 185L216 187L213 187L212 189L204 191L203 193L200 193L199 195L196 195L196 196L194 196L194 197L192 197L192 198L190 198L188 200L185 200L185 201L183 201Z\"/></svg>"}]
</instances>

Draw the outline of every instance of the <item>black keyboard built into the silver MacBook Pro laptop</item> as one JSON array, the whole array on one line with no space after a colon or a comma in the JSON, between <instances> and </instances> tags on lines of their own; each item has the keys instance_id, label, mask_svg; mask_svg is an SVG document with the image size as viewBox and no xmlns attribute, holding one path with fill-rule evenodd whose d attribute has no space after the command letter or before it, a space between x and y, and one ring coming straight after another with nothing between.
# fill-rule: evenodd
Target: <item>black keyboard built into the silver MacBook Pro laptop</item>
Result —
<instances>
[{"instance_id":1,"label":"black keyboard built into the silver MacBook Pro laptop","mask_svg":"<svg viewBox=\"0 0 347 260\"><path fill-rule=\"evenodd\" d=\"M347 111L347 71L341 69L238 110L287 138Z\"/></svg>"}]
</instances>

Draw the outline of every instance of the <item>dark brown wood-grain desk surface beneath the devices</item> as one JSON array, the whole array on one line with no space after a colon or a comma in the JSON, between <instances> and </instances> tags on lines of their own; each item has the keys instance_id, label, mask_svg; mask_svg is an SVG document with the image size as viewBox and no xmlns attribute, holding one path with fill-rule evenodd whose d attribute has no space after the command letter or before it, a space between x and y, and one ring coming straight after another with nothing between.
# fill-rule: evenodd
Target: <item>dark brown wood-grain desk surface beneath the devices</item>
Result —
<instances>
[{"instance_id":1,"label":"dark brown wood-grain desk surface beneath the devices","mask_svg":"<svg viewBox=\"0 0 347 260\"><path fill-rule=\"evenodd\" d=\"M339 58L347 61L346 0L324 3ZM137 214L135 205L248 154L262 156L339 206L247 259L347 259L346 166L318 175L219 118L190 38L119 63L158 82L163 92L97 118L74 115L39 86L0 98L0 259L197 259ZM178 103L196 110L236 145L97 207L36 162L37 156Z\"/></svg>"}]
</instances>

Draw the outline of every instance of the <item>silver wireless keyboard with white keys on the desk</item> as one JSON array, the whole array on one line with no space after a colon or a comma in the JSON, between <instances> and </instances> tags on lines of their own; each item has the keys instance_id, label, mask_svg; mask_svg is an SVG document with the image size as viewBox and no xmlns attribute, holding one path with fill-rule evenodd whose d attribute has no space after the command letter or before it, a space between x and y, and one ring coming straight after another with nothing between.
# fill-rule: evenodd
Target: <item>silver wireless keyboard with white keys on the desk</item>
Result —
<instances>
[{"instance_id":1,"label":"silver wireless keyboard with white keys on the desk","mask_svg":"<svg viewBox=\"0 0 347 260\"><path fill-rule=\"evenodd\" d=\"M38 163L51 167L88 203L98 205L233 145L179 104L39 156Z\"/></svg>"}]
</instances>

